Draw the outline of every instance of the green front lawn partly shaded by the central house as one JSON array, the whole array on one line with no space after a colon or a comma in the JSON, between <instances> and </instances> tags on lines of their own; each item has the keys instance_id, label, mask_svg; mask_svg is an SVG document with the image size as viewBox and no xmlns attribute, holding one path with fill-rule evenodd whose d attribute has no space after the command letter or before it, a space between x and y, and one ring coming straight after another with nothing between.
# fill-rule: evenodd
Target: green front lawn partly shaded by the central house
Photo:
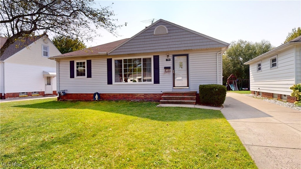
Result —
<instances>
[{"instance_id":1,"label":"green front lawn partly shaded by the central house","mask_svg":"<svg viewBox=\"0 0 301 169\"><path fill-rule=\"evenodd\" d=\"M257 168L220 111L157 104L1 103L1 163L24 168Z\"/></svg>"}]
</instances>

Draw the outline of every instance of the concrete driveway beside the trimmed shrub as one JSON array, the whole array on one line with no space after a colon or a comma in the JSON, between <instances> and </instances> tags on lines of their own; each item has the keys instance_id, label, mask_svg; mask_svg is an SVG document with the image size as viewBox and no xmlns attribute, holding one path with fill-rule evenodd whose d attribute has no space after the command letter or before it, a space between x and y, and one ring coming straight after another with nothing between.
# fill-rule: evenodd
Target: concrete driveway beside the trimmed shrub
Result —
<instances>
[{"instance_id":1,"label":"concrete driveway beside the trimmed shrub","mask_svg":"<svg viewBox=\"0 0 301 169\"><path fill-rule=\"evenodd\" d=\"M223 115L258 168L301 168L301 112L227 92Z\"/></svg>"}]
</instances>

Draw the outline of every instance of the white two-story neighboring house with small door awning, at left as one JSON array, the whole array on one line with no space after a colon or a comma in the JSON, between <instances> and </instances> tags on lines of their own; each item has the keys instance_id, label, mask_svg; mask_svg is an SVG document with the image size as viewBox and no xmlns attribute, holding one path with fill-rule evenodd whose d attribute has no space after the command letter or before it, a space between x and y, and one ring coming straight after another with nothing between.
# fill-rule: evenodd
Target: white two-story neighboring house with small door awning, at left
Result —
<instances>
[{"instance_id":1,"label":"white two-story neighboring house with small door awning, at left","mask_svg":"<svg viewBox=\"0 0 301 169\"><path fill-rule=\"evenodd\" d=\"M60 54L46 33L10 45L0 56L1 99L56 95L56 62L48 58Z\"/></svg>"}]
</instances>

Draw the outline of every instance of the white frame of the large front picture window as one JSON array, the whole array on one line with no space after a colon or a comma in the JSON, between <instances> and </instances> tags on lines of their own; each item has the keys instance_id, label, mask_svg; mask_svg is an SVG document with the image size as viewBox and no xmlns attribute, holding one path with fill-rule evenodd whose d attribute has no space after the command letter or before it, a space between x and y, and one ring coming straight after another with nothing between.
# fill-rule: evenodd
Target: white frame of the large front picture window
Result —
<instances>
[{"instance_id":1,"label":"white frame of the large front picture window","mask_svg":"<svg viewBox=\"0 0 301 169\"><path fill-rule=\"evenodd\" d=\"M125 83L125 82L115 82L115 60L123 60L123 59L135 59L135 58L151 58L151 81L147 82L133 82L133 83ZM112 59L112 81L113 84L130 84L130 85L135 85L135 84L154 84L154 56L134 56L134 57L119 57L119 58L113 58ZM143 72L142 72L143 73Z\"/></svg>"}]
</instances>

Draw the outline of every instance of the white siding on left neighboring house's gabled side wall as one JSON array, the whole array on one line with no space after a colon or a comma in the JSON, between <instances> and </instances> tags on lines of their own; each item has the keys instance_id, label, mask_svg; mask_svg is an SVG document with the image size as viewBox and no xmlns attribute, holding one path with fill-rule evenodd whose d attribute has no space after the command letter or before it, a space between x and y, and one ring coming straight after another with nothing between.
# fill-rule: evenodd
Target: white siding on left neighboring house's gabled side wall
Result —
<instances>
[{"instance_id":1,"label":"white siding on left neighboring house's gabled side wall","mask_svg":"<svg viewBox=\"0 0 301 169\"><path fill-rule=\"evenodd\" d=\"M42 38L30 44L5 60L5 93L45 91L43 71L56 72L56 61L42 56ZM60 55L57 48L48 40L49 57ZM1 77L2 79L2 77ZM53 78L53 91L56 90L56 78Z\"/></svg>"}]
</instances>

